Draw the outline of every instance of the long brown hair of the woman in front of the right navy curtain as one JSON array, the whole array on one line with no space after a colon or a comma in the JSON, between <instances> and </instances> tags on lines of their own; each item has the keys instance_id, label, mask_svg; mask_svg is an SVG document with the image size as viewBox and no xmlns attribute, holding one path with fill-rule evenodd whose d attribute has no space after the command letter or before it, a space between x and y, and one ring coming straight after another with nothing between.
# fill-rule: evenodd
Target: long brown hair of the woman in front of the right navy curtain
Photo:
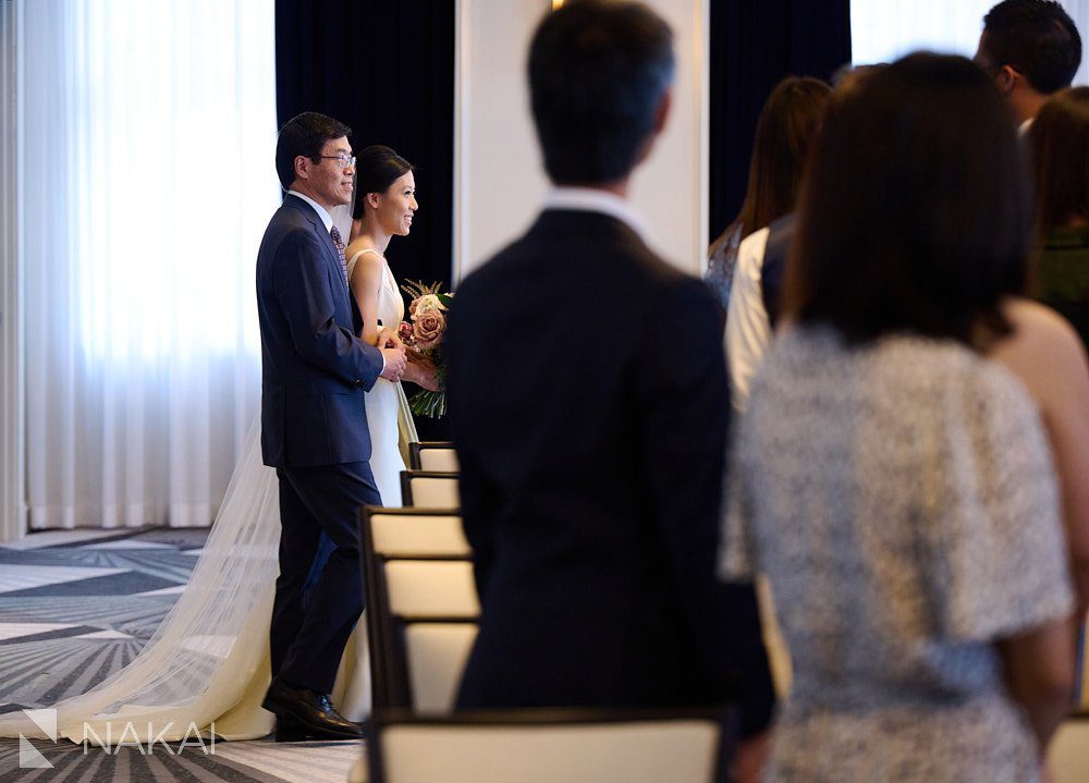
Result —
<instances>
[{"instance_id":1,"label":"long brown hair of the woman in front of the right navy curtain","mask_svg":"<svg viewBox=\"0 0 1089 783\"><path fill-rule=\"evenodd\" d=\"M742 238L794 211L809 148L824 120L831 88L817 78L787 76L768 96L756 124L745 200L711 245L711 255L738 225Z\"/></svg>"}]
</instances>

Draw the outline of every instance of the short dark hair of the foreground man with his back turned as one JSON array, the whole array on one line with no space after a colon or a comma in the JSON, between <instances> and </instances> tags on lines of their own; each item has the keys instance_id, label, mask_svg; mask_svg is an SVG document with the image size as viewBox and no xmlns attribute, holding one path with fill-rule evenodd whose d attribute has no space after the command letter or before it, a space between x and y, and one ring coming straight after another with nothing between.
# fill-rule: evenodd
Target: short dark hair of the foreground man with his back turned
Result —
<instances>
[{"instance_id":1,"label":"short dark hair of the foreground man with his back turned","mask_svg":"<svg viewBox=\"0 0 1089 783\"><path fill-rule=\"evenodd\" d=\"M556 184L624 179L673 81L673 32L640 2L573 0L529 47L529 93L544 169Z\"/></svg>"}]
</instances>

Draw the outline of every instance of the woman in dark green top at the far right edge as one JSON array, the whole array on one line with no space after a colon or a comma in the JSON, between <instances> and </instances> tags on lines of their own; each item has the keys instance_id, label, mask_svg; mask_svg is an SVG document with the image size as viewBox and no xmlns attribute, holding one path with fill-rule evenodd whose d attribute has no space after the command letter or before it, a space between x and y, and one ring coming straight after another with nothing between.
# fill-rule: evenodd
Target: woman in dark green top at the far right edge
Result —
<instances>
[{"instance_id":1,"label":"woman in dark green top at the far right edge","mask_svg":"<svg viewBox=\"0 0 1089 783\"><path fill-rule=\"evenodd\" d=\"M1032 295L1089 345L1089 87L1056 93L1029 130L1042 242Z\"/></svg>"}]
</instances>

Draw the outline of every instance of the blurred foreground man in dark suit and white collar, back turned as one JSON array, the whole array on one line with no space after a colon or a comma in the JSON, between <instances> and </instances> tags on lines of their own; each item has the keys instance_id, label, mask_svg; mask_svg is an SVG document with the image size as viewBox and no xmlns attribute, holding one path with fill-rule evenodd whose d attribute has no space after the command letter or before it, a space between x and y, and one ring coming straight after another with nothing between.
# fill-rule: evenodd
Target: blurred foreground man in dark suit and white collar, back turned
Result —
<instances>
[{"instance_id":1,"label":"blurred foreground man in dark suit and white collar, back turned","mask_svg":"<svg viewBox=\"0 0 1089 783\"><path fill-rule=\"evenodd\" d=\"M673 63L669 26L638 2L567 3L534 35L554 189L458 286L446 337L481 608L457 705L735 702L751 780L774 697L751 585L715 577L730 412L714 302L648 248L625 198ZM608 303L617 320L595 323Z\"/></svg>"}]
</instances>

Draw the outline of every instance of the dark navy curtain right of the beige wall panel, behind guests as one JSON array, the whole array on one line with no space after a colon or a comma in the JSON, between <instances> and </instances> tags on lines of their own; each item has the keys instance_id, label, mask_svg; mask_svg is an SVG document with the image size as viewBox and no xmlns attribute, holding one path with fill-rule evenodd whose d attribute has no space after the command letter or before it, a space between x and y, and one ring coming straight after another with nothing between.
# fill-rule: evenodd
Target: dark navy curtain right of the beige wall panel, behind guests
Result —
<instances>
[{"instance_id":1,"label":"dark navy curtain right of the beige wall panel, behind guests","mask_svg":"<svg viewBox=\"0 0 1089 783\"><path fill-rule=\"evenodd\" d=\"M709 241L741 209L756 121L775 84L829 79L848 62L849 0L711 0Z\"/></svg>"}]
</instances>

